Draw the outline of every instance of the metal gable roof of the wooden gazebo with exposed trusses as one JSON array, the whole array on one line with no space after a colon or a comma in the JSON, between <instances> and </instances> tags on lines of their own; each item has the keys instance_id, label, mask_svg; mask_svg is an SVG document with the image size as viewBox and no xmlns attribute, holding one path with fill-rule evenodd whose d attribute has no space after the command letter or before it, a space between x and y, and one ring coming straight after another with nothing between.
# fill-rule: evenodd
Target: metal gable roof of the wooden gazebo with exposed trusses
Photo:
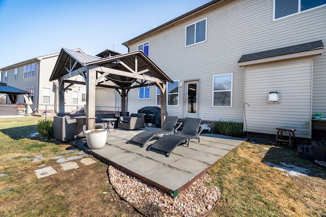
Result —
<instances>
[{"instance_id":1,"label":"metal gable roof of the wooden gazebo with exposed trusses","mask_svg":"<svg viewBox=\"0 0 326 217\"><path fill-rule=\"evenodd\" d=\"M111 88L130 89L134 84L137 87L146 81L173 82L142 51L99 58L65 48L62 48L49 80L66 80L87 69L102 74L105 82L111 81L112 85L106 85Z\"/></svg>"}]
</instances>

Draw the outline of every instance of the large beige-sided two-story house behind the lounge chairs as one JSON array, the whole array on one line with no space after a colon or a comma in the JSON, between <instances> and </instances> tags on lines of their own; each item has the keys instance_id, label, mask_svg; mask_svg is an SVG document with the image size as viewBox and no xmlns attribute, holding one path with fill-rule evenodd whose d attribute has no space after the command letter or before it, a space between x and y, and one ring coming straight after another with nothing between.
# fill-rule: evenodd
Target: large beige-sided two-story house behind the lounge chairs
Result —
<instances>
[{"instance_id":1,"label":"large beige-sided two-story house behind the lounge chairs","mask_svg":"<svg viewBox=\"0 0 326 217\"><path fill-rule=\"evenodd\" d=\"M325 23L325 1L215 0L123 45L174 80L169 115L311 138L311 115L326 114ZM155 87L129 91L129 112L159 104Z\"/></svg>"}]
</instances>

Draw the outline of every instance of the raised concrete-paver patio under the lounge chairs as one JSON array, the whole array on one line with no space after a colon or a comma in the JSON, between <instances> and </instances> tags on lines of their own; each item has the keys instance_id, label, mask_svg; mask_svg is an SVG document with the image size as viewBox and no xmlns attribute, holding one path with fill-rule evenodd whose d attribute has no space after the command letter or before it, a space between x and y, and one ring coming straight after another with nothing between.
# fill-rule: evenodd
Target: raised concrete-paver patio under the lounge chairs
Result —
<instances>
[{"instance_id":1,"label":"raised concrete-paver patio under the lounge chairs","mask_svg":"<svg viewBox=\"0 0 326 217\"><path fill-rule=\"evenodd\" d=\"M157 128L146 127L145 130ZM134 135L144 130L111 130L107 133L106 144L100 149L89 149L85 139L77 143L79 148L121 170L153 185L176 197L200 178L206 170L224 157L245 139L216 134L201 134L191 140L189 147L176 147L170 157L162 153L148 151L154 142L149 141L144 147L126 144Z\"/></svg>"}]
</instances>

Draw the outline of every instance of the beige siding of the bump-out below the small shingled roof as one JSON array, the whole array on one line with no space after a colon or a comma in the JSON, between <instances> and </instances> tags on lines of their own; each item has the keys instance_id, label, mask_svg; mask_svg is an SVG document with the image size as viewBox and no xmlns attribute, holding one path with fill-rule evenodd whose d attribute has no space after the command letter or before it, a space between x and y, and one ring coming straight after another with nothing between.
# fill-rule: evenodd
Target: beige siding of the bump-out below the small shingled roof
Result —
<instances>
[{"instance_id":1,"label":"beige siding of the bump-out below the small shingled roof","mask_svg":"<svg viewBox=\"0 0 326 217\"><path fill-rule=\"evenodd\" d=\"M298 137L310 138L311 67L302 63L246 71L248 131L275 134L278 127L294 128ZM281 92L281 104L267 104L269 91Z\"/></svg>"}]
</instances>

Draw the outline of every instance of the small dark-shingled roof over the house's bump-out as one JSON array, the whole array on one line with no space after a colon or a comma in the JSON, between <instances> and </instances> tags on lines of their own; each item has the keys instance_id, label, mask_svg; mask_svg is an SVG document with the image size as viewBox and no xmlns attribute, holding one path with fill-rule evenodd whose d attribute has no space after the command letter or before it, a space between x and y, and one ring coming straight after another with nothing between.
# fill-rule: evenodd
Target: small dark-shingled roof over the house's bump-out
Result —
<instances>
[{"instance_id":1,"label":"small dark-shingled roof over the house's bump-out","mask_svg":"<svg viewBox=\"0 0 326 217\"><path fill-rule=\"evenodd\" d=\"M310 51L310 50L320 49L323 47L324 47L324 45L323 45L322 41L319 40L319 41L308 42L308 43L298 44L298 45L292 45L292 46L288 46L288 47L282 47L282 48L266 50L266 51L261 51L261 52L256 52L256 53L244 54L240 57L238 63L242 63L244 61L256 60L256 59L268 58L268 57L273 57L273 56L280 56L280 55Z\"/></svg>"}]
</instances>

